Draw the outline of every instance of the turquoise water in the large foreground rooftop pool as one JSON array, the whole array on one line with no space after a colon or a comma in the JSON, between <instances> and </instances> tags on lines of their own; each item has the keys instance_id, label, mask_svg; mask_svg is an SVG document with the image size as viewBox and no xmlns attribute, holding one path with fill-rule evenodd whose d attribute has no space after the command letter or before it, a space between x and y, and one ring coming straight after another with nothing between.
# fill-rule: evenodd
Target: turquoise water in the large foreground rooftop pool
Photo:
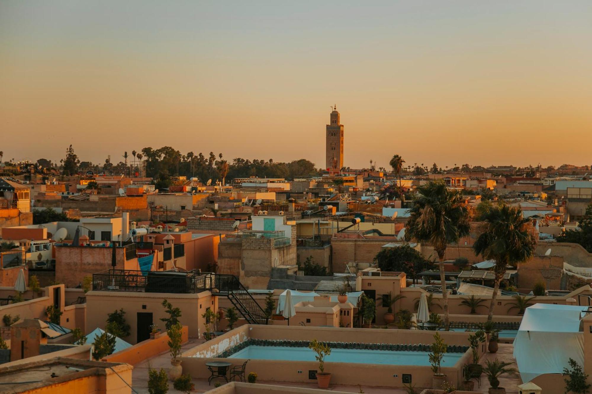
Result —
<instances>
[{"instance_id":1,"label":"turquoise water in the large foreground rooftop pool","mask_svg":"<svg viewBox=\"0 0 592 394\"><path fill-rule=\"evenodd\" d=\"M314 352L307 347L249 345L232 354L230 359L316 361ZM332 348L325 357L330 363L359 363L429 366L427 351L392 351L371 349ZM452 367L464 353L446 353L443 367Z\"/></svg>"}]
</instances>

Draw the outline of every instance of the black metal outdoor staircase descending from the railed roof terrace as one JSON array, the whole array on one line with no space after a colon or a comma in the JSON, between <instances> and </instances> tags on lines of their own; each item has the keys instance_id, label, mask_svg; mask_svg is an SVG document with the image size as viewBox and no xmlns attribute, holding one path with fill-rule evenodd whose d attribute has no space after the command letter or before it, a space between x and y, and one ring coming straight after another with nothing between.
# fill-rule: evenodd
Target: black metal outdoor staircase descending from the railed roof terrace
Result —
<instances>
[{"instance_id":1,"label":"black metal outdoor staircase descending from the railed roof terrace","mask_svg":"<svg viewBox=\"0 0 592 394\"><path fill-rule=\"evenodd\" d=\"M239 278L230 274L210 274L209 281L210 291L217 296L226 296L249 324L265 322L265 312Z\"/></svg>"}]
</instances>

